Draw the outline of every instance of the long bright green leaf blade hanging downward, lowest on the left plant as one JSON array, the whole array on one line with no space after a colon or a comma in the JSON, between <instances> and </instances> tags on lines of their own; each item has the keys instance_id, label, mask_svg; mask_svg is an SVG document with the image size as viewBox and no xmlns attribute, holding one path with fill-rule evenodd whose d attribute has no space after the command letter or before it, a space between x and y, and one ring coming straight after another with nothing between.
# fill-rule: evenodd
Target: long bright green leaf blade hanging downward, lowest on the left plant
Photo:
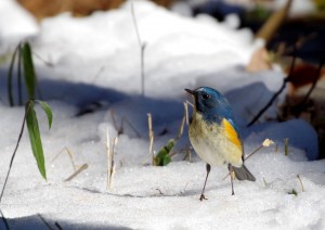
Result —
<instances>
[{"instance_id":1,"label":"long bright green leaf blade hanging downward, lowest on the left plant","mask_svg":"<svg viewBox=\"0 0 325 230\"><path fill-rule=\"evenodd\" d=\"M28 101L26 103L25 113L32 154L41 176L47 179L46 161L34 101Z\"/></svg>"}]
</instances>

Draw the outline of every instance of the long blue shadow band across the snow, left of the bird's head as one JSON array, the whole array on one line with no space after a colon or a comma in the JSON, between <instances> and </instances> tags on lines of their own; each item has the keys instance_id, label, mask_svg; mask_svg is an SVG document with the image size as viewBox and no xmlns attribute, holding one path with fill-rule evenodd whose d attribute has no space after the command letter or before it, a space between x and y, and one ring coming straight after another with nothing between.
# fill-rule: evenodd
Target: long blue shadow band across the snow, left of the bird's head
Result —
<instances>
[{"instance_id":1,"label":"long blue shadow band across the snow, left of the bird's head","mask_svg":"<svg viewBox=\"0 0 325 230\"><path fill-rule=\"evenodd\" d=\"M6 72L0 68L0 97L3 104L9 104L6 84ZM14 81L13 88L15 89L16 102L16 81ZM39 89L41 93L38 93L37 98L49 102L50 105L51 101L60 101L76 106L77 112L75 115L78 117L99 111L112 111L118 125L122 118L127 119L139 132L145 133L146 138L148 133L148 113L152 114L156 135L168 133L170 129L173 129L170 126L173 126L172 124L176 120L182 119L184 114L183 104L177 100L142 97L86 82L39 79ZM26 100L25 89L23 97ZM103 117L103 122L112 122L112 117L107 116ZM128 131L128 128L129 126L126 126L125 131ZM134 137L134 132L129 131L126 135Z\"/></svg>"}]
</instances>

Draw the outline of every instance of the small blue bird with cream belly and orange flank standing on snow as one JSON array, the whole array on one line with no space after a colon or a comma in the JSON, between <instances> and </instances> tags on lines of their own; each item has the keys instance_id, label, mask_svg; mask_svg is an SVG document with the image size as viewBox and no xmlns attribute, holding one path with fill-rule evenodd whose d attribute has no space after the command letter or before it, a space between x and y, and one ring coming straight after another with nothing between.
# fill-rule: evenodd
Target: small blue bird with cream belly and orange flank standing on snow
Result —
<instances>
[{"instance_id":1,"label":"small blue bird with cream belly and orange flank standing on snow","mask_svg":"<svg viewBox=\"0 0 325 230\"><path fill-rule=\"evenodd\" d=\"M238 180L256 181L256 178L244 165L243 139L232 106L223 94L210 87L184 90L194 100L188 125L190 141L197 155L206 162L207 174L199 200L207 200L204 193L211 166L227 165L234 195L233 175Z\"/></svg>"}]
</instances>

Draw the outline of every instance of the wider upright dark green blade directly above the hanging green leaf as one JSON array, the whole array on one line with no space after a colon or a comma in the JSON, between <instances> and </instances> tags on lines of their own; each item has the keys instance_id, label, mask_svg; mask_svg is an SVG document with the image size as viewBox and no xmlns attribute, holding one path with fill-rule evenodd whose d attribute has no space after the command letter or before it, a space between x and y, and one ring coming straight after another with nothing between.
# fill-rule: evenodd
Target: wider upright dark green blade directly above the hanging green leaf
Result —
<instances>
[{"instance_id":1,"label":"wider upright dark green blade directly above the hanging green leaf","mask_svg":"<svg viewBox=\"0 0 325 230\"><path fill-rule=\"evenodd\" d=\"M25 84L29 99L35 99L36 75L32 64L31 50L28 42L22 47Z\"/></svg>"}]
</instances>

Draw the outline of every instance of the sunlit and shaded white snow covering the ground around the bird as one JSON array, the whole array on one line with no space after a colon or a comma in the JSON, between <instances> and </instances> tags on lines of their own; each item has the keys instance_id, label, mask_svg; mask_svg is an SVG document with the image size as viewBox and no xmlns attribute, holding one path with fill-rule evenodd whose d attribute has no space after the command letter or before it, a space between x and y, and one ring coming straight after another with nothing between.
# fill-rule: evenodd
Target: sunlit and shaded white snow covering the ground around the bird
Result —
<instances>
[{"instance_id":1,"label":"sunlit and shaded white snow covering the ground around the bird","mask_svg":"<svg viewBox=\"0 0 325 230\"><path fill-rule=\"evenodd\" d=\"M18 12L26 22L30 18L13 2L5 4L5 11ZM54 115L48 130L46 115L37 111L48 181L38 173L25 133L0 206L10 227L48 229L43 218L52 228L56 222L63 229L324 229L325 164L324 159L309 161L317 158L314 129L299 119L266 122L276 117L284 94L259 124L245 128L284 77L275 69L244 71L261 41L248 29L236 29L235 18L227 23L206 15L188 18L147 1L135 1L134 11L141 40L147 44L145 97L140 94L140 47L130 2L84 18L67 13L47 18L31 33L32 38L23 33L35 31L32 23L0 23L0 35L11 26L20 28L11 38L28 37L35 53L52 63L49 66L35 59L43 98ZM6 44L11 38L3 38L2 50L12 50ZM23 107L8 106L8 65L2 63L0 68L0 184L24 114ZM204 85L229 98L246 154L265 138L275 144L247 159L257 181L235 181L234 196L230 179L223 180L226 167L213 167L206 189L208 200L199 202L205 163L193 151L191 162L182 161L182 150L190 146L187 128L177 142L172 163L151 166L147 114L153 117L154 150L158 151L178 135L183 102L191 100L183 89ZM94 113L76 116L94 102L100 103ZM133 128L123 122L113 187L106 190L107 130L110 143L117 136L112 114L117 126L123 119ZM288 156L284 155L286 138ZM64 182L74 173L67 150L77 168L83 164L88 168ZM290 194L292 190L298 195ZM2 221L0 229L4 229Z\"/></svg>"}]
</instances>

